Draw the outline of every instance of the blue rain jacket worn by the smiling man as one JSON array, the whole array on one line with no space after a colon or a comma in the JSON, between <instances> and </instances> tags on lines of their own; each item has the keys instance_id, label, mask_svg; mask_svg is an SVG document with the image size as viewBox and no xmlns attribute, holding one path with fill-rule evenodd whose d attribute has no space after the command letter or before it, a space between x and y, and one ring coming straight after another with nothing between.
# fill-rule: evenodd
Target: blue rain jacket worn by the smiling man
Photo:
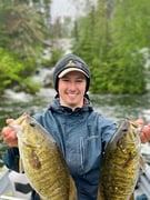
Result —
<instances>
[{"instance_id":1,"label":"blue rain jacket worn by the smiling man","mask_svg":"<svg viewBox=\"0 0 150 200\"><path fill-rule=\"evenodd\" d=\"M70 108L61 107L59 100L56 100L46 112L33 117L59 144L76 181L78 200L97 200L102 152L117 124L93 111L89 103L72 111ZM18 170L17 149L11 148L11 151L4 154L4 163Z\"/></svg>"}]
</instances>

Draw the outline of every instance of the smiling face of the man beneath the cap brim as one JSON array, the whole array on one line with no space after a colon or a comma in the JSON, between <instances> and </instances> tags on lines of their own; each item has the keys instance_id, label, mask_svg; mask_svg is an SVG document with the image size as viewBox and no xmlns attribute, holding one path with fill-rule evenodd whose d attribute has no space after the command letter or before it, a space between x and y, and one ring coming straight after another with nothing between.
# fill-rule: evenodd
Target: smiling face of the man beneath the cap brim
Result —
<instances>
[{"instance_id":1,"label":"smiling face of the man beneath the cap brim","mask_svg":"<svg viewBox=\"0 0 150 200\"><path fill-rule=\"evenodd\" d=\"M71 71L60 78L58 91L61 106L72 109L81 108L83 106L86 86L86 76L79 71Z\"/></svg>"}]
</instances>

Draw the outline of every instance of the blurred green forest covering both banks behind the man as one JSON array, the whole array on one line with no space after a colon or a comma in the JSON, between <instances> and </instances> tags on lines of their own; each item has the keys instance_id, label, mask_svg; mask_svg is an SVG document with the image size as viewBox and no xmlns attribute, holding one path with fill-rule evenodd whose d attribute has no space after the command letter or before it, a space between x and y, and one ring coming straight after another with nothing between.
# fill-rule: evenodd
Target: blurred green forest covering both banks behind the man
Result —
<instances>
[{"instance_id":1,"label":"blurred green forest covering both banks behind the man","mask_svg":"<svg viewBox=\"0 0 150 200\"><path fill-rule=\"evenodd\" d=\"M71 51L91 70L92 93L148 92L150 74L150 1L88 0L84 14L51 21L51 0L0 2L0 94L8 88L36 93L37 68L51 68L64 53L53 47L72 39ZM72 4L78 9L80 0ZM50 57L43 50L50 48Z\"/></svg>"}]
</instances>

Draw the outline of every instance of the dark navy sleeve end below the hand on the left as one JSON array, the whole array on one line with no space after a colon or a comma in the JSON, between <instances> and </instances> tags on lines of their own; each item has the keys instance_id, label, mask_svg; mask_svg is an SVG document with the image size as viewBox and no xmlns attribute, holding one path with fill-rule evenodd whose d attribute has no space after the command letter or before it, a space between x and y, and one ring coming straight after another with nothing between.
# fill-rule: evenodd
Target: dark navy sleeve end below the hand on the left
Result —
<instances>
[{"instance_id":1,"label":"dark navy sleeve end below the hand on the left","mask_svg":"<svg viewBox=\"0 0 150 200\"><path fill-rule=\"evenodd\" d=\"M7 168L19 172L19 150L18 148L8 148L2 157Z\"/></svg>"}]
</instances>

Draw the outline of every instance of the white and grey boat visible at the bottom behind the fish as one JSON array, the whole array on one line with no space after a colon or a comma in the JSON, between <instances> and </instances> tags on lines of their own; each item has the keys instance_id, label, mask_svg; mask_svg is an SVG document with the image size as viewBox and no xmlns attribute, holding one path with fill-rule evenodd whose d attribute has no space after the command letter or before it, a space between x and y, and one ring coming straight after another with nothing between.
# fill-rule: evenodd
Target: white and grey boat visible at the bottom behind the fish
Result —
<instances>
[{"instance_id":1,"label":"white and grey boat visible at the bottom behind the fish","mask_svg":"<svg viewBox=\"0 0 150 200\"><path fill-rule=\"evenodd\" d=\"M134 189L134 200L144 194L150 200L150 166L141 170ZM31 187L24 173L18 173L6 167L0 169L0 200L30 200Z\"/></svg>"}]
</instances>

